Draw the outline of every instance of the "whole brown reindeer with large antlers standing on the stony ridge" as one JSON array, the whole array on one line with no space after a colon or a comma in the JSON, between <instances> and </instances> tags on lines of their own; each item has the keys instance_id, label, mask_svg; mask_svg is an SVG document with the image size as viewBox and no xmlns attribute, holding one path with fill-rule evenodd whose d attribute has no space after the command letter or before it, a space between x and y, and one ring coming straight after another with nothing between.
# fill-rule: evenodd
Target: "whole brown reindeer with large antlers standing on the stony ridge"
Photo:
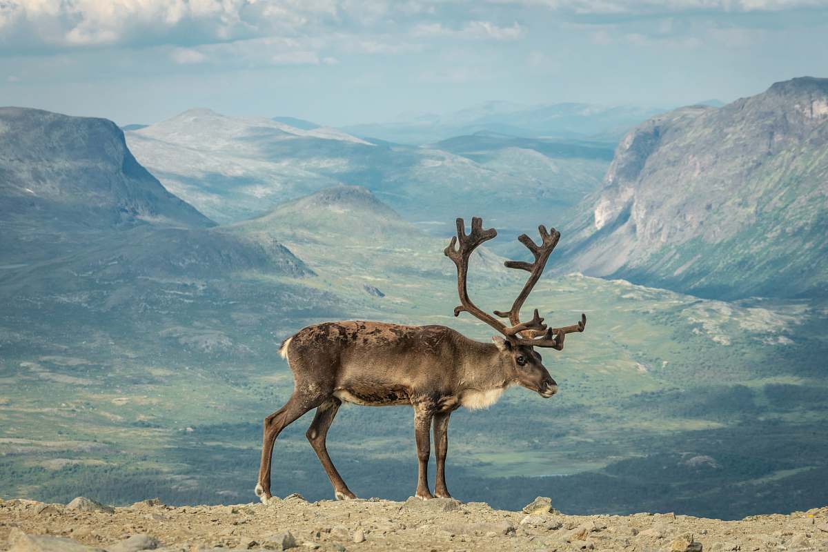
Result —
<instances>
[{"instance_id":1,"label":"whole brown reindeer with large antlers standing on the stony ridge","mask_svg":"<svg viewBox=\"0 0 828 552\"><path fill-rule=\"evenodd\" d=\"M439 325L405 326L384 322L326 322L299 330L287 338L279 353L289 363L296 387L285 406L264 420L262 463L256 494L267 502L271 497L270 470L273 444L286 425L311 409L316 409L306 436L334 487L338 500L355 498L325 448L325 437L339 406L351 402L362 406L410 405L414 409L419 471L416 497L450 498L445 486L445 455L451 413L465 406L485 408L498 400L503 391L520 385L540 396L555 395L557 384L541 362L537 347L563 348L564 337L582 332L586 316L564 328L547 328L537 309L528 322L520 321L523 302L540 278L546 260L555 249L561 233L538 227L541 244L522 234L517 238L535 257L534 262L507 261L508 268L529 272L529 278L508 312L495 310L498 318L480 310L466 286L469 257L481 243L495 236L493 228L484 230L481 218L472 218L471 233L465 234L462 218L457 219L457 235L451 238L445 255L457 266L457 291L460 305L455 316L467 312L489 324L499 334L493 343L466 338L454 329ZM436 448L436 485L432 495L426 469L431 454L429 430L433 425Z\"/></svg>"}]
</instances>

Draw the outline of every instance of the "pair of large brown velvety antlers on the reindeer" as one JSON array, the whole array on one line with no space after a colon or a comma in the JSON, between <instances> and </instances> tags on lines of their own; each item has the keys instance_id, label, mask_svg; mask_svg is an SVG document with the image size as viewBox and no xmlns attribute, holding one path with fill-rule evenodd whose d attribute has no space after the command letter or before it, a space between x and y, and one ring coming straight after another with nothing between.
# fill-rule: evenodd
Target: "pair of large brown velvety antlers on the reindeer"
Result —
<instances>
[{"instance_id":1,"label":"pair of large brown velvety antlers on the reindeer","mask_svg":"<svg viewBox=\"0 0 828 552\"><path fill-rule=\"evenodd\" d=\"M471 232L467 236L465 233L465 223L462 218L457 219L457 235L451 238L449 247L445 248L445 256L449 257L457 266L457 293L460 295L460 305L455 307L455 316L460 315L465 311L472 314L477 319L489 324L493 329L498 330L512 343L520 345L529 345L532 347L551 347L561 350L563 348L564 336L574 331L583 331L584 324L586 324L586 317L581 315L581 322L575 326L567 326L566 328L546 328L543 324L543 319L535 309L532 319L528 322L520 321L520 309L523 302L526 300L532 287L537 283L537 279L541 277L543 267L546 266L546 259L549 258L552 250L555 249L558 240L561 238L561 233L554 228L551 233L546 232L546 228L540 226L538 230L541 233L542 245L538 246L526 234L523 234L519 239L535 256L535 262L520 262L507 261L506 266L509 268L520 268L531 272L529 280L523 286L520 295L512 305L512 309L508 313L503 313L498 310L494 314L501 318L508 318L512 326L507 327L498 319L495 319L491 314L484 312L477 305L474 305L469 299L469 292L467 286L467 277L469 276L469 258L474 249L481 243L487 242L498 235L497 230L489 228L483 229L483 219L473 217L471 219ZM455 248L456 247L456 248ZM580 327L580 329L575 329Z\"/></svg>"}]
</instances>

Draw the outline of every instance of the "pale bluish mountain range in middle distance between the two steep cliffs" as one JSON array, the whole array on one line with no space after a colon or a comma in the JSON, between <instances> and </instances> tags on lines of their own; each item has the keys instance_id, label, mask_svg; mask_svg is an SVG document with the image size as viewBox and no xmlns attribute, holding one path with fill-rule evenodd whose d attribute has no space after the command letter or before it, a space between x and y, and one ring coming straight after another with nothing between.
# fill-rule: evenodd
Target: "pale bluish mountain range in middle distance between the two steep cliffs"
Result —
<instances>
[{"instance_id":1,"label":"pale bluish mountain range in middle distance between the two steep cliffs","mask_svg":"<svg viewBox=\"0 0 828 552\"><path fill-rule=\"evenodd\" d=\"M456 144L450 147L460 153L369 142L205 109L128 132L127 141L164 185L219 223L335 185L363 186L408 221L438 231L450 230L458 215L484 216L499 228L520 227L524 218L553 223L595 190L609 165L606 146L506 137L474 156Z\"/></svg>"}]
</instances>

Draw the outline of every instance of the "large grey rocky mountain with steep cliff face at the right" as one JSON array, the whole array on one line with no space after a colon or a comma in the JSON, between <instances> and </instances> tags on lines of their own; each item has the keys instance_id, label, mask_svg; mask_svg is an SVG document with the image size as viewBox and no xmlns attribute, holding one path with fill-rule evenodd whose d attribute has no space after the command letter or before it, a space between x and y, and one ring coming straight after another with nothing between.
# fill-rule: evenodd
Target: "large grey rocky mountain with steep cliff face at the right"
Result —
<instances>
[{"instance_id":1,"label":"large grey rocky mountain with steep cliff face at the right","mask_svg":"<svg viewBox=\"0 0 828 552\"><path fill-rule=\"evenodd\" d=\"M773 84L629 132L580 205L570 267L696 295L828 290L828 79Z\"/></svg>"}]
</instances>

